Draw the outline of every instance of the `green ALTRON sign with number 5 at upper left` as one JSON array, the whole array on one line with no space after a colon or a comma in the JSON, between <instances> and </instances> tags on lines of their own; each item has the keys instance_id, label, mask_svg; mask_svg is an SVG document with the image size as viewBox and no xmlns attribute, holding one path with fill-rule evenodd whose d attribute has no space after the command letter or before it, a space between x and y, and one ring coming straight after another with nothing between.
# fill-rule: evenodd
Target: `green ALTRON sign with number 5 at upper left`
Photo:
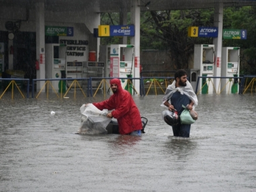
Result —
<instances>
[{"instance_id":1,"label":"green ALTRON sign with number 5 at upper left","mask_svg":"<svg viewBox=\"0 0 256 192\"><path fill-rule=\"evenodd\" d=\"M47 36L74 36L74 27L45 26Z\"/></svg>"}]
</instances>

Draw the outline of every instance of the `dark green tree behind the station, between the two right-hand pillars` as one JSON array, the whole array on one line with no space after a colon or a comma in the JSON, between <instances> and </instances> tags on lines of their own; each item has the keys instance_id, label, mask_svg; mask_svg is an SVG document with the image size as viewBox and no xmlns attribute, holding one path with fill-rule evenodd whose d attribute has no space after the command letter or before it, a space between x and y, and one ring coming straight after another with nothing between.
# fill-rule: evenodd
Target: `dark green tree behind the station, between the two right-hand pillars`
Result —
<instances>
[{"instance_id":1,"label":"dark green tree behind the station, between the two right-hand pillars","mask_svg":"<svg viewBox=\"0 0 256 192\"><path fill-rule=\"evenodd\" d=\"M189 26L212 26L213 9L205 11L193 10L165 10L151 11L150 15L143 24L141 24L143 34L151 39L161 42L162 48L168 50L176 69L188 68L189 59L193 54L195 44L209 44L212 39L191 38L188 37ZM147 30L150 26L150 30ZM153 44L153 45L154 45ZM141 47L143 47L143 43Z\"/></svg>"}]
</instances>

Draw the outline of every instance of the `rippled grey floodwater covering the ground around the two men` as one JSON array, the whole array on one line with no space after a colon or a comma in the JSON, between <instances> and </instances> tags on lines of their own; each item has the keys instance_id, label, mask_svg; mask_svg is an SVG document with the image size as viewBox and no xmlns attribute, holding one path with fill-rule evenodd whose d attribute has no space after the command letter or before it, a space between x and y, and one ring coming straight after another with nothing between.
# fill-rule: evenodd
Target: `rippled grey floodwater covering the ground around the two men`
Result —
<instances>
[{"instance_id":1,"label":"rippled grey floodwater covering the ground around the two men","mask_svg":"<svg viewBox=\"0 0 256 192\"><path fill-rule=\"evenodd\" d=\"M75 134L80 106L105 98L0 99L0 191L256 191L255 95L198 95L190 138L162 95L134 96L142 137Z\"/></svg>"}]
</instances>

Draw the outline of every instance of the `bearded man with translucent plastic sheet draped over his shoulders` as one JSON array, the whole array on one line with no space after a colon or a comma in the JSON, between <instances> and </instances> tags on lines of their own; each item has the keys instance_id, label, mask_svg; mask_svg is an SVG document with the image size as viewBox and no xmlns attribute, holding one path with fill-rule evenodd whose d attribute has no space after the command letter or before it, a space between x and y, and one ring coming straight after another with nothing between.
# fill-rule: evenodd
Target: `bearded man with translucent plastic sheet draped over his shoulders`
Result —
<instances>
[{"instance_id":1,"label":"bearded man with translucent plastic sheet draped over his shoulders","mask_svg":"<svg viewBox=\"0 0 256 192\"><path fill-rule=\"evenodd\" d=\"M198 105L198 98L189 81L186 80L187 73L183 69L179 69L174 74L174 82L167 87L164 98L162 99L161 106L167 106L169 111L178 111L181 115L184 108L182 105L187 106L189 110ZM189 137L191 125L181 124L172 126L172 131L175 137Z\"/></svg>"}]
</instances>

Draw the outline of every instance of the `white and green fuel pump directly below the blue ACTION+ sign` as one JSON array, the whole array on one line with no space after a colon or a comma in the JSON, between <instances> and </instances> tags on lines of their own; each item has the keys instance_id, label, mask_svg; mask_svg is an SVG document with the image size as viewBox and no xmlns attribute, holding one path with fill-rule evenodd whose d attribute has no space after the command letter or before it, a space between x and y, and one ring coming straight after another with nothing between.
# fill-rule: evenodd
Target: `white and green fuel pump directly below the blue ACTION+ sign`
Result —
<instances>
[{"instance_id":1,"label":"white and green fuel pump directly below the blue ACTION+ sign","mask_svg":"<svg viewBox=\"0 0 256 192\"><path fill-rule=\"evenodd\" d=\"M201 94L212 94L213 84L208 82L213 77L213 65L215 63L215 45L195 45L194 47L194 69L199 69L199 90ZM213 81L213 79L212 79ZM209 86L208 86L209 85Z\"/></svg>"}]
</instances>

